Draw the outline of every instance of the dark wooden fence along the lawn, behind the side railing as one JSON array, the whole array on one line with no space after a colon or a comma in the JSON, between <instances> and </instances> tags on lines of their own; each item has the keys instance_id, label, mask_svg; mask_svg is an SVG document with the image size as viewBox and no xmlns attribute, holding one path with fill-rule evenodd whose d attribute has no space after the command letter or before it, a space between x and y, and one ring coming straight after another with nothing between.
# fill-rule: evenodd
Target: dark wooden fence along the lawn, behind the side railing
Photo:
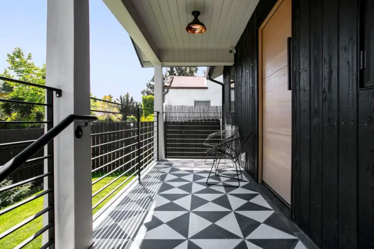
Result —
<instances>
[{"instance_id":1,"label":"dark wooden fence along the lawn, behind the side railing","mask_svg":"<svg viewBox=\"0 0 374 249\"><path fill-rule=\"evenodd\" d=\"M144 163L155 153L156 137L154 122L140 122L140 154ZM98 170L108 172L131 161L138 153L130 153L138 148L137 122L97 122L91 124L91 167L95 169L106 163L114 161ZM0 143L10 143L25 140L36 140L44 134L44 128L33 129L4 129L0 130ZM30 143L0 147L0 165L5 164ZM41 149L33 157L43 156ZM128 154L128 155L127 155ZM118 160L116 160L118 159ZM126 164L123 170L130 168L137 160ZM29 179L43 174L43 161L25 163L18 168L11 176L13 183ZM41 182L40 182L41 183ZM39 183L38 183L39 184Z\"/></svg>"}]
</instances>

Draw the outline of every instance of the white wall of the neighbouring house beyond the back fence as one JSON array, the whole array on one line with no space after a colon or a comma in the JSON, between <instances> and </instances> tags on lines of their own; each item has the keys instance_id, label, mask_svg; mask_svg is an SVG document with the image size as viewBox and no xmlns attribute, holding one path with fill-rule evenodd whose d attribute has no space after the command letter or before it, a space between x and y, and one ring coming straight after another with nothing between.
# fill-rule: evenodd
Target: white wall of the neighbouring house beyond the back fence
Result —
<instances>
[{"instance_id":1,"label":"white wall of the neighbouring house beyond the back fence","mask_svg":"<svg viewBox=\"0 0 374 249\"><path fill-rule=\"evenodd\" d=\"M223 77L215 80L222 82ZM210 106L222 106L222 86L206 81L208 89L169 89L165 104L173 106L193 106L194 101L210 101Z\"/></svg>"}]
</instances>

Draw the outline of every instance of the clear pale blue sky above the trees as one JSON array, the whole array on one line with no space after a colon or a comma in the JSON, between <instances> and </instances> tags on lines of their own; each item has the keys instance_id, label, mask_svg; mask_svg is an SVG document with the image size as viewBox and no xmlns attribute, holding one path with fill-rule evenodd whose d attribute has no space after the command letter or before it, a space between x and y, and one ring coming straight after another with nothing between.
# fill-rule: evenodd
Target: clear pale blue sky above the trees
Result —
<instances>
[{"instance_id":1,"label":"clear pale blue sky above the trees","mask_svg":"<svg viewBox=\"0 0 374 249\"><path fill-rule=\"evenodd\" d=\"M0 72L7 67L6 54L15 47L31 53L36 65L44 64L46 0L1 0L0 9ZM99 98L129 92L140 101L153 68L141 67L129 35L102 0L90 0L90 46L91 92ZM197 76L202 76L202 70Z\"/></svg>"}]
</instances>

